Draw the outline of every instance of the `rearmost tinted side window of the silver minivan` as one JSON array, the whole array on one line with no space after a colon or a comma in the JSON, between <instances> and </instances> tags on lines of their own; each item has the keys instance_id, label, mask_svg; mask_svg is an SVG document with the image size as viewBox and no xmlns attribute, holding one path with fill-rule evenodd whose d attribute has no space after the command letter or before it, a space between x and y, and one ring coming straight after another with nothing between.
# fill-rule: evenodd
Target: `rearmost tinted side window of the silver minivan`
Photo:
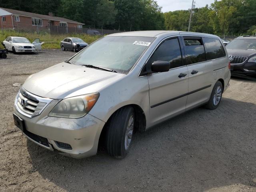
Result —
<instances>
[{"instance_id":1,"label":"rearmost tinted side window of the silver minivan","mask_svg":"<svg viewBox=\"0 0 256 192\"><path fill-rule=\"evenodd\" d=\"M207 60L225 57L225 51L220 40L214 38L203 37Z\"/></svg>"}]
</instances>

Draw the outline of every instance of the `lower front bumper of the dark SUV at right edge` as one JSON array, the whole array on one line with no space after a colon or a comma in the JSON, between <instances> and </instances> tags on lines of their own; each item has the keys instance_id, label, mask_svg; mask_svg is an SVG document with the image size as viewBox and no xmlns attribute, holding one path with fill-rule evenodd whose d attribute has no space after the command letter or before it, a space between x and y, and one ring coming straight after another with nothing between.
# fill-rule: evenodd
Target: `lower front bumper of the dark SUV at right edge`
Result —
<instances>
[{"instance_id":1,"label":"lower front bumper of the dark SUV at right edge","mask_svg":"<svg viewBox=\"0 0 256 192\"><path fill-rule=\"evenodd\" d=\"M256 75L256 63L231 64L231 74Z\"/></svg>"}]
</instances>

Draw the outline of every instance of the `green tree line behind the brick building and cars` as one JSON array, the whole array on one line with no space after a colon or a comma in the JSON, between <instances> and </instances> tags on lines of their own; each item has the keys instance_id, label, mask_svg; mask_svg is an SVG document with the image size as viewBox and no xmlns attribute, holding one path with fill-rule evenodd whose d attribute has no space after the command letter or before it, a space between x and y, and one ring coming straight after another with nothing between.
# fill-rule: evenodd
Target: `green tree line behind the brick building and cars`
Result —
<instances>
[{"instance_id":1,"label":"green tree line behind the brick building and cars","mask_svg":"<svg viewBox=\"0 0 256 192\"><path fill-rule=\"evenodd\" d=\"M187 31L190 10L162 13L156 0L0 0L4 8L65 17L86 27ZM190 31L221 36L255 34L256 0L215 0L195 8Z\"/></svg>"}]
</instances>

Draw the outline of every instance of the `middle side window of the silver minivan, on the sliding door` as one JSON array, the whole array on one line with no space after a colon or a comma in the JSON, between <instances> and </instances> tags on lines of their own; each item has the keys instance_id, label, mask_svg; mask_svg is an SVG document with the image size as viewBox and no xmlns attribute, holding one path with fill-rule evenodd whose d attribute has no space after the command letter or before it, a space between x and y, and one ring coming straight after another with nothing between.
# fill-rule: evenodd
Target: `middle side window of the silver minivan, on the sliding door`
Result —
<instances>
[{"instance_id":1,"label":"middle side window of the silver minivan, on the sliding door","mask_svg":"<svg viewBox=\"0 0 256 192\"><path fill-rule=\"evenodd\" d=\"M186 64L194 64L206 61L204 45L201 38L184 38L185 42L185 54L186 54Z\"/></svg>"}]
</instances>

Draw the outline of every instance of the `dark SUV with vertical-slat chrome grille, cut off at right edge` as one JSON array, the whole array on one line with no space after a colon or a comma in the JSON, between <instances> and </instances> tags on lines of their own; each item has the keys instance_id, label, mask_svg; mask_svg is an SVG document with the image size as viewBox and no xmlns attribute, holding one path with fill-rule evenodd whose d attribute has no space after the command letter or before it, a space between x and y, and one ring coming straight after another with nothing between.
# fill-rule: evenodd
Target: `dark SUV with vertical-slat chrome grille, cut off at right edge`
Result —
<instances>
[{"instance_id":1,"label":"dark SUV with vertical-slat chrome grille, cut off at right edge","mask_svg":"<svg viewBox=\"0 0 256 192\"><path fill-rule=\"evenodd\" d=\"M227 44L231 74L256 76L256 37L244 36Z\"/></svg>"}]
</instances>

